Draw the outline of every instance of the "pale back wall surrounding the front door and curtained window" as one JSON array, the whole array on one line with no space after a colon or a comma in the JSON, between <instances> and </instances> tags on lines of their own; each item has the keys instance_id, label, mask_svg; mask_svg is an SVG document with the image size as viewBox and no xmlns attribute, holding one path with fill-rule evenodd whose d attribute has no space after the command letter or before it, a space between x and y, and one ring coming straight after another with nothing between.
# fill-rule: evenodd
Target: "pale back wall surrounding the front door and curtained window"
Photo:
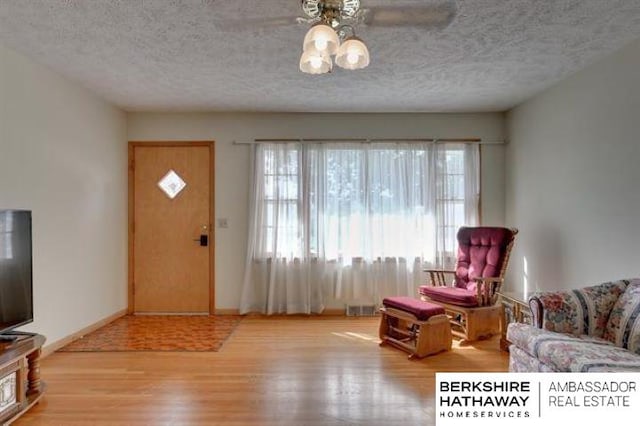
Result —
<instances>
[{"instance_id":1,"label":"pale back wall surrounding the front door and curtained window","mask_svg":"<svg viewBox=\"0 0 640 426\"><path fill-rule=\"evenodd\" d=\"M503 114L238 114L130 113L132 141L215 140L215 217L229 228L216 228L216 308L237 309L246 257L249 146L233 140L253 138L504 138ZM503 146L482 149L482 218L504 222ZM340 306L327 303L329 307Z\"/></svg>"}]
</instances>

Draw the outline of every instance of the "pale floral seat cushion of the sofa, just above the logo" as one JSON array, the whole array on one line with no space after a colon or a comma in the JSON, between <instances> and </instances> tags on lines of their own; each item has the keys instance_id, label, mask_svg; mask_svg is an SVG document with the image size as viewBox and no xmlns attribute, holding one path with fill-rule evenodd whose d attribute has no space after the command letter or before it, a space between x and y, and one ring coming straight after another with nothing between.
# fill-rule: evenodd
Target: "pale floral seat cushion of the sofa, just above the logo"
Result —
<instances>
[{"instance_id":1,"label":"pale floral seat cushion of the sofa, just above the logo","mask_svg":"<svg viewBox=\"0 0 640 426\"><path fill-rule=\"evenodd\" d=\"M507 339L555 371L640 371L640 356L591 336L569 336L526 324L509 324Z\"/></svg>"}]
</instances>

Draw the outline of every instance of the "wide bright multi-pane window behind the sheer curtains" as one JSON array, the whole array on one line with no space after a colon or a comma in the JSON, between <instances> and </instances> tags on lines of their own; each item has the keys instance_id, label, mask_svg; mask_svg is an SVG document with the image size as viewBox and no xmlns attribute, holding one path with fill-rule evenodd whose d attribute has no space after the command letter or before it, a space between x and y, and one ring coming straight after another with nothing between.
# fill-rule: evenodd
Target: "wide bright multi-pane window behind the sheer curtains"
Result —
<instances>
[{"instance_id":1,"label":"wide bright multi-pane window behind the sheer curtains","mask_svg":"<svg viewBox=\"0 0 640 426\"><path fill-rule=\"evenodd\" d=\"M461 144L260 145L254 257L455 257L477 192L465 186L477 173L467 152Z\"/></svg>"}]
</instances>

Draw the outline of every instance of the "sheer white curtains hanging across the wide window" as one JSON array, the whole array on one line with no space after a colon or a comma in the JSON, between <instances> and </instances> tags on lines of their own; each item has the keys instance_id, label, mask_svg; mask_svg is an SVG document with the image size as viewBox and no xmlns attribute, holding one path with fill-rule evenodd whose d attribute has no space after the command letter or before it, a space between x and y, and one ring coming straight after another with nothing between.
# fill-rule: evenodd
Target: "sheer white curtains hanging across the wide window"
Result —
<instances>
[{"instance_id":1,"label":"sheer white curtains hanging across the wide window","mask_svg":"<svg viewBox=\"0 0 640 426\"><path fill-rule=\"evenodd\" d=\"M477 150L256 145L241 312L316 313L327 297L415 295L422 268L452 266L457 228L475 224Z\"/></svg>"}]
</instances>

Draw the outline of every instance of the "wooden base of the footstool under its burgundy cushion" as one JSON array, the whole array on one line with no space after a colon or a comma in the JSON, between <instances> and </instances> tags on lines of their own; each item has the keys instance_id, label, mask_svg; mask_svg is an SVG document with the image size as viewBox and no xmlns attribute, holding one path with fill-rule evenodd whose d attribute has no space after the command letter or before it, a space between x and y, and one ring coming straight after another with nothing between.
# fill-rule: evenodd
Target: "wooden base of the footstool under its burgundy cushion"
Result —
<instances>
[{"instance_id":1,"label":"wooden base of the footstool under its burgundy cushion","mask_svg":"<svg viewBox=\"0 0 640 426\"><path fill-rule=\"evenodd\" d=\"M421 321L395 308L382 307L380 313L380 346L388 344L408 352L409 359L451 350L451 327L446 315Z\"/></svg>"}]
</instances>

